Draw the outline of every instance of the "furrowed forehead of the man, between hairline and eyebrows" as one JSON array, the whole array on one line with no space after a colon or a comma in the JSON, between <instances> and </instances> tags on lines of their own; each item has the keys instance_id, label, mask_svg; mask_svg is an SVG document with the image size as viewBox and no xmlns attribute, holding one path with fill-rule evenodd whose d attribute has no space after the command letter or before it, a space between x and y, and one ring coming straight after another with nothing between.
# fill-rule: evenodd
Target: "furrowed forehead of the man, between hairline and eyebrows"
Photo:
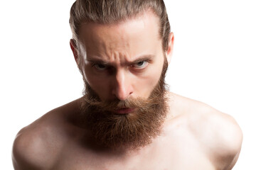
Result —
<instances>
[{"instance_id":1,"label":"furrowed forehead of the man, between hairline and eyebrows","mask_svg":"<svg viewBox=\"0 0 256 170\"><path fill-rule=\"evenodd\" d=\"M122 23L82 23L79 40L82 49L90 56L154 55L161 47L159 18L146 12Z\"/></svg>"}]
</instances>

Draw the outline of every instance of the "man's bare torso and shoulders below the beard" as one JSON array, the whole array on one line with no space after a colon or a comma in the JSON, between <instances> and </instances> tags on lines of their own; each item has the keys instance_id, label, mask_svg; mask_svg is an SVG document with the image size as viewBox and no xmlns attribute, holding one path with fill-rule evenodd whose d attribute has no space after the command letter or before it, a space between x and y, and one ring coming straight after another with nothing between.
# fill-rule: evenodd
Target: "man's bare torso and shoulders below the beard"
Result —
<instances>
[{"instance_id":1,"label":"man's bare torso and shoulders below the beard","mask_svg":"<svg viewBox=\"0 0 256 170\"><path fill-rule=\"evenodd\" d=\"M18 132L14 168L232 169L242 143L235 120L201 102L171 96L162 134L135 151L113 152L95 146L89 132L80 126L80 99L55 108Z\"/></svg>"}]
</instances>

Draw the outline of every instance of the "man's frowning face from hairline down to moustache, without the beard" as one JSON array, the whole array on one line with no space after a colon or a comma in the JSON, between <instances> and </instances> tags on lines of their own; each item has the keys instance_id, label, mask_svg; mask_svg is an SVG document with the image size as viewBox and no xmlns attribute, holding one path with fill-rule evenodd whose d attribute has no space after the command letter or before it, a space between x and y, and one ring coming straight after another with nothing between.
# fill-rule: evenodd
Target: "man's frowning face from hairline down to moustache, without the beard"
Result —
<instances>
[{"instance_id":1,"label":"man's frowning face from hairline down to moustache, without the beard","mask_svg":"<svg viewBox=\"0 0 256 170\"><path fill-rule=\"evenodd\" d=\"M164 64L154 14L114 25L85 23L79 36L80 70L102 101L149 97Z\"/></svg>"}]
</instances>

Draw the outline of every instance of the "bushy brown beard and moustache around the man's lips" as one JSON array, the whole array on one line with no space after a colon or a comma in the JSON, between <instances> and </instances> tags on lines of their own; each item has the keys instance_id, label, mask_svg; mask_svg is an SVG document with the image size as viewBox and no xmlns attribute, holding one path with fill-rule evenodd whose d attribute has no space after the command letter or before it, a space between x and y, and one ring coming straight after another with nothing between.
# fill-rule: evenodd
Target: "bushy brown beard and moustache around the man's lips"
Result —
<instances>
[{"instance_id":1,"label":"bushy brown beard and moustache around the man's lips","mask_svg":"<svg viewBox=\"0 0 256 170\"><path fill-rule=\"evenodd\" d=\"M136 149L149 145L154 137L160 135L168 109L164 83L167 67L165 60L159 82L146 99L100 101L85 81L81 105L82 118L98 145L112 149ZM136 111L129 114L114 113L119 108L136 108Z\"/></svg>"}]
</instances>

